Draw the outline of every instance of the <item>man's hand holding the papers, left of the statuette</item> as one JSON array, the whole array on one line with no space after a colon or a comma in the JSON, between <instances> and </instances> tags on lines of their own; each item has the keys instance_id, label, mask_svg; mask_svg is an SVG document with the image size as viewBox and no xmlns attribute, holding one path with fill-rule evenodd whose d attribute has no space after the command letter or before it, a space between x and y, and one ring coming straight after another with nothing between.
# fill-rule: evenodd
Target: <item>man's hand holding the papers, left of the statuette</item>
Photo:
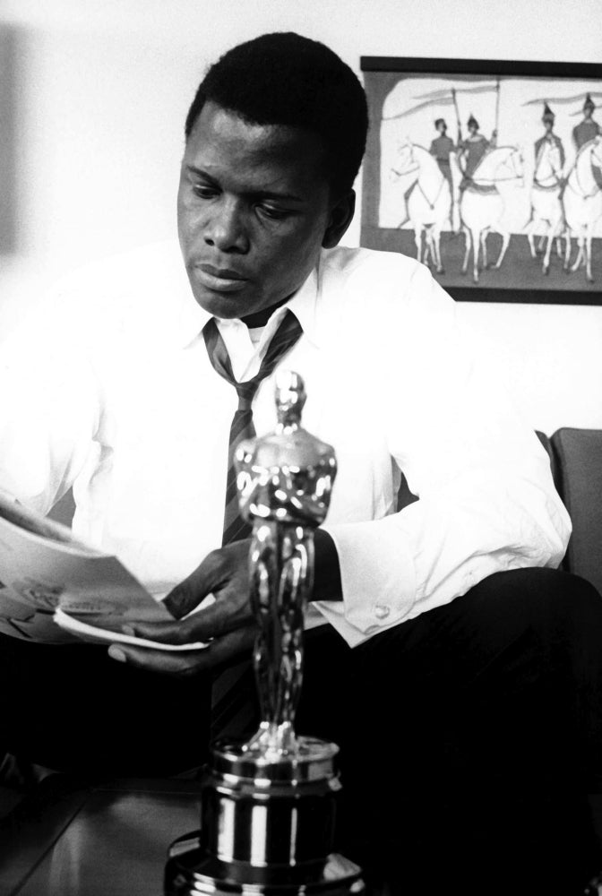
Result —
<instances>
[{"instance_id":1,"label":"man's hand holding the papers, left of the statuette","mask_svg":"<svg viewBox=\"0 0 602 896\"><path fill-rule=\"evenodd\" d=\"M133 666L178 676L191 676L227 663L253 647L256 625L249 603L251 539L211 551L184 582L168 594L165 606L179 622L130 625L128 634L170 644L210 642L204 650L150 650L115 644L109 655ZM215 602L187 616L202 599ZM187 616L187 618L182 618Z\"/></svg>"}]
</instances>

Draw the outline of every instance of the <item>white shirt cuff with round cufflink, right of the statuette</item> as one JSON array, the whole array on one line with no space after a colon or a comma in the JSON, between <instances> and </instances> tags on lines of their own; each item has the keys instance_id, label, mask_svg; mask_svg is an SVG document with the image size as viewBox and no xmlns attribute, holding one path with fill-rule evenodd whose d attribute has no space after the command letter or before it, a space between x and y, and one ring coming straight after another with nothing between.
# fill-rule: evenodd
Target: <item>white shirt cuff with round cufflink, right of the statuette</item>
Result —
<instances>
[{"instance_id":1,"label":"white shirt cuff with round cufflink, right of the statuette","mask_svg":"<svg viewBox=\"0 0 602 896\"><path fill-rule=\"evenodd\" d=\"M351 647L405 619L417 576L407 538L394 516L323 526L339 554L342 601L314 602Z\"/></svg>"}]
</instances>

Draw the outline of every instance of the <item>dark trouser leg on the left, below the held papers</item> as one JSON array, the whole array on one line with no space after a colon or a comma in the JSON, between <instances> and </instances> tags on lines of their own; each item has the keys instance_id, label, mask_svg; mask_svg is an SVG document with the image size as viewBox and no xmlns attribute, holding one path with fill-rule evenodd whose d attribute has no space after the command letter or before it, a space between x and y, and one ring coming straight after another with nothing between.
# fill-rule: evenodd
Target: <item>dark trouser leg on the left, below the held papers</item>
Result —
<instances>
[{"instance_id":1,"label":"dark trouser leg on the left, below the held papers","mask_svg":"<svg viewBox=\"0 0 602 896\"><path fill-rule=\"evenodd\" d=\"M0 636L0 747L86 778L168 777L205 762L211 683L145 673L91 644Z\"/></svg>"}]
</instances>

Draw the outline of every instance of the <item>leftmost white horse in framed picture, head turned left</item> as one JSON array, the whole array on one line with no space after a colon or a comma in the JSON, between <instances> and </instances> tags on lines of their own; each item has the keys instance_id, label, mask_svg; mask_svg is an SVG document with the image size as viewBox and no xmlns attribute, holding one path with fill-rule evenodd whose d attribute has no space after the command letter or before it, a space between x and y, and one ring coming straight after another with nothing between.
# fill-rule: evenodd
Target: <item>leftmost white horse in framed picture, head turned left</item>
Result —
<instances>
[{"instance_id":1,"label":"leftmost white horse in framed picture, head turned left","mask_svg":"<svg viewBox=\"0 0 602 896\"><path fill-rule=\"evenodd\" d=\"M414 228L417 259L425 264L432 255L435 270L443 273L441 263L441 231L449 223L452 191L436 159L423 146L404 142L391 175L409 178L408 219Z\"/></svg>"}]
</instances>

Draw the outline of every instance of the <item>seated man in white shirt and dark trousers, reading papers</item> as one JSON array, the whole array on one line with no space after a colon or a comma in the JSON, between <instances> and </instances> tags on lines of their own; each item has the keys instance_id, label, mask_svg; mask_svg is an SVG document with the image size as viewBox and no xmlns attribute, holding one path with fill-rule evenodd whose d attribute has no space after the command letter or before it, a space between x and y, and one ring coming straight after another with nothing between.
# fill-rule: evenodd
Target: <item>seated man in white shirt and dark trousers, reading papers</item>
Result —
<instances>
[{"instance_id":1,"label":"seated man in white shirt and dark trousers, reading papers","mask_svg":"<svg viewBox=\"0 0 602 896\"><path fill-rule=\"evenodd\" d=\"M208 678L254 641L249 540L229 540L225 502L237 385L258 378L262 433L287 366L339 461L297 728L340 744L340 849L392 892L537 892L544 869L568 896L598 860L581 808L602 740L602 607L555 571L570 523L546 454L451 298L409 258L338 247L366 125L357 78L323 45L235 47L186 120L187 280L172 246L82 271L7 352L4 488L47 510L73 483L78 535L169 591L176 617L215 600L134 629L206 650L114 645L112 662L82 645L40 663L4 639L12 680L34 679L16 734L3 694L6 737L88 773L202 762ZM419 500L395 513L401 471Z\"/></svg>"}]
</instances>

